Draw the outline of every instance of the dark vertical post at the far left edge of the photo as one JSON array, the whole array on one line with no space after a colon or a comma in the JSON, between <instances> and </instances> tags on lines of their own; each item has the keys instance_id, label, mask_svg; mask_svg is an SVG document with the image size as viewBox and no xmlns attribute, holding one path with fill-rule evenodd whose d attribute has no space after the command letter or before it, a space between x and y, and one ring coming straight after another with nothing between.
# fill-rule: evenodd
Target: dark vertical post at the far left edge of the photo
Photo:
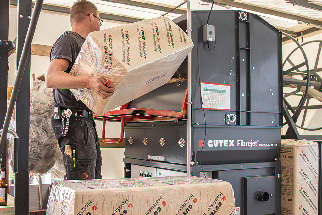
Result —
<instances>
[{"instance_id":1,"label":"dark vertical post at the far left edge of the photo","mask_svg":"<svg viewBox=\"0 0 322 215\"><path fill-rule=\"evenodd\" d=\"M9 0L2 0L0 6L0 40L9 40ZM7 112L8 49L0 48L0 125L5 122ZM6 166L6 147L2 151L2 167ZM6 170L8 173L9 170Z\"/></svg>"}]
</instances>

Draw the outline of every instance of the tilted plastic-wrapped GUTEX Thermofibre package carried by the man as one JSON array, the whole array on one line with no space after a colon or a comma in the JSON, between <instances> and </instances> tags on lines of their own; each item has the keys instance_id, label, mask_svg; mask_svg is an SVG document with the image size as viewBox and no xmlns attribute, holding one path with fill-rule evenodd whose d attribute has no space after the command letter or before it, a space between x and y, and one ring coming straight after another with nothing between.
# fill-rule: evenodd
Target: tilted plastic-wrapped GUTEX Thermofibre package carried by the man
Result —
<instances>
[{"instance_id":1,"label":"tilted plastic-wrapped GUTEX Thermofibre package carried by the man","mask_svg":"<svg viewBox=\"0 0 322 215\"><path fill-rule=\"evenodd\" d=\"M90 88L71 92L94 113L108 112L167 83L192 48L167 17L92 32L70 74L110 79L115 92L107 99Z\"/></svg>"}]
</instances>

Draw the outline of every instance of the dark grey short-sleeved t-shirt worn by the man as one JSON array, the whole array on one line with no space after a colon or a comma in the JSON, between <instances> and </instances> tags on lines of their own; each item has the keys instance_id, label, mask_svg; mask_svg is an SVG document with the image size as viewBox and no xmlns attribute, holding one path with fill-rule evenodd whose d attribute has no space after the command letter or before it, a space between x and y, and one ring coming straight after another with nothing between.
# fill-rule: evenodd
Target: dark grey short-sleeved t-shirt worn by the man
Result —
<instances>
[{"instance_id":1,"label":"dark grey short-sleeved t-shirt worn by the man","mask_svg":"<svg viewBox=\"0 0 322 215\"><path fill-rule=\"evenodd\" d=\"M77 58L78 53L81 51L81 46L85 39L81 35L72 31L65 31L52 45L50 51L50 61L54 59L66 59L71 62L66 73L71 72L71 68ZM87 110L88 107L81 100L77 101L75 96L70 90L57 90L54 89L54 107L63 107L70 109Z\"/></svg>"}]
</instances>

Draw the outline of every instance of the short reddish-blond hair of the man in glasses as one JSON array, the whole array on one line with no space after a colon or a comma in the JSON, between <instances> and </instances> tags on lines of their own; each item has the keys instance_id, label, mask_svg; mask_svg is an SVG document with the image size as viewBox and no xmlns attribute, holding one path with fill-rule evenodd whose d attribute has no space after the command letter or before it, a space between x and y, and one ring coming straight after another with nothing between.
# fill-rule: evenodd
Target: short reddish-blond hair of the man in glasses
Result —
<instances>
[{"instance_id":1,"label":"short reddish-blond hair of the man in glasses","mask_svg":"<svg viewBox=\"0 0 322 215\"><path fill-rule=\"evenodd\" d=\"M99 10L94 3L86 0L75 2L70 10L71 24L82 21L90 13L93 13L96 16L99 15Z\"/></svg>"}]
</instances>

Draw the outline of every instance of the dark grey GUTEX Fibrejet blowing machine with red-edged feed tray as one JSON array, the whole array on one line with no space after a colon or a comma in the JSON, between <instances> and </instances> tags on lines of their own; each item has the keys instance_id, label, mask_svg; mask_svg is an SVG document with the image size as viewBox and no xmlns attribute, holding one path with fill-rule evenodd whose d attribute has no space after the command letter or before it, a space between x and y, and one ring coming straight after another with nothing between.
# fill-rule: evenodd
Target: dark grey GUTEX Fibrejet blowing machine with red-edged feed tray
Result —
<instances>
[{"instance_id":1,"label":"dark grey GUTEX Fibrejet blowing machine with red-edged feed tray","mask_svg":"<svg viewBox=\"0 0 322 215\"><path fill-rule=\"evenodd\" d=\"M230 182L238 215L280 215L282 34L248 12L213 11L204 27L208 15L192 11L192 30L174 20L194 42L180 81L97 118L122 123L124 177L191 171Z\"/></svg>"}]
</instances>

